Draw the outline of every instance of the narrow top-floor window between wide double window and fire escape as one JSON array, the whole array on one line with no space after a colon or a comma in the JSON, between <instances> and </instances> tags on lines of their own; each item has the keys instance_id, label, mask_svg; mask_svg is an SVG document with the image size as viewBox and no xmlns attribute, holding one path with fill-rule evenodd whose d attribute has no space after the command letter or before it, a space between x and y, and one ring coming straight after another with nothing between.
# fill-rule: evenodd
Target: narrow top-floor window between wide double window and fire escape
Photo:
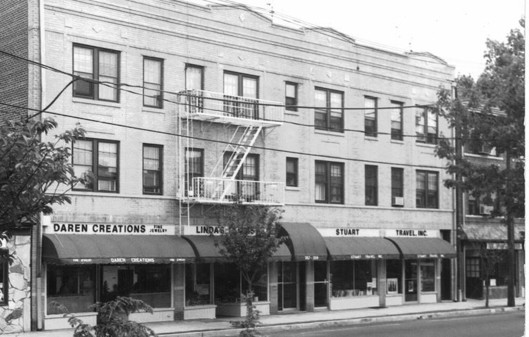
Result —
<instances>
[{"instance_id":1,"label":"narrow top-floor window between wide double window and fire escape","mask_svg":"<svg viewBox=\"0 0 529 337\"><path fill-rule=\"evenodd\" d=\"M143 105L163 107L163 61L143 58Z\"/></svg>"}]
</instances>

